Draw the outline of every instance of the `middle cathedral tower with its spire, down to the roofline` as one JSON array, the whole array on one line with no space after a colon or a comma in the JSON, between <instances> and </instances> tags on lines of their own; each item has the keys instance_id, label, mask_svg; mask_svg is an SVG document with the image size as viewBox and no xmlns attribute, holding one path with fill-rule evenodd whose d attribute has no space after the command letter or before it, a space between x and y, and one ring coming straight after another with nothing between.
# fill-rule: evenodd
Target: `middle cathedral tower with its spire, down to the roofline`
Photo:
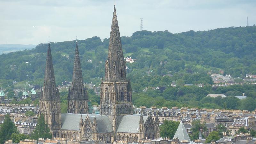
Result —
<instances>
[{"instance_id":1,"label":"middle cathedral tower with its spire, down to the roofline","mask_svg":"<svg viewBox=\"0 0 256 144\"><path fill-rule=\"evenodd\" d=\"M68 89L68 113L88 113L88 96L84 87L84 81L81 70L78 46L76 41L76 50L74 56L74 67L71 88Z\"/></svg>"}]
</instances>

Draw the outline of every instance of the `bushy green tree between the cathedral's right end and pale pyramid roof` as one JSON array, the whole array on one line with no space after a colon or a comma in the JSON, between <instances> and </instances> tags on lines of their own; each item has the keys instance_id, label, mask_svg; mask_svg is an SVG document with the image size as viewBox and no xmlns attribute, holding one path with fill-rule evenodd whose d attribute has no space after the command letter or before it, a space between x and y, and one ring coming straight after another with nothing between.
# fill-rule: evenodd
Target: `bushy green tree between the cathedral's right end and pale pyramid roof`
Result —
<instances>
[{"instance_id":1,"label":"bushy green tree between the cathedral's right end and pale pyramid roof","mask_svg":"<svg viewBox=\"0 0 256 144\"><path fill-rule=\"evenodd\" d=\"M173 138L180 122L164 120L164 124L160 125L160 137Z\"/></svg>"}]
</instances>

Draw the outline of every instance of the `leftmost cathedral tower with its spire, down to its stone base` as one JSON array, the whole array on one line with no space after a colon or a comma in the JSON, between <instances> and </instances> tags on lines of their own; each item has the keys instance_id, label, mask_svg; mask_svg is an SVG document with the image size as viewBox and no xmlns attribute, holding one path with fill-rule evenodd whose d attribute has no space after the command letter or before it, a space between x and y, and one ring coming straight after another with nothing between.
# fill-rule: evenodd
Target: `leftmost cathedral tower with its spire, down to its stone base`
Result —
<instances>
[{"instance_id":1,"label":"leftmost cathedral tower with its spire, down to its stone base","mask_svg":"<svg viewBox=\"0 0 256 144\"><path fill-rule=\"evenodd\" d=\"M52 136L59 137L61 129L60 93L55 83L50 42L48 42L44 85L43 88L41 88L39 103L40 114L44 115L45 121L49 125L50 132L52 132Z\"/></svg>"}]
</instances>

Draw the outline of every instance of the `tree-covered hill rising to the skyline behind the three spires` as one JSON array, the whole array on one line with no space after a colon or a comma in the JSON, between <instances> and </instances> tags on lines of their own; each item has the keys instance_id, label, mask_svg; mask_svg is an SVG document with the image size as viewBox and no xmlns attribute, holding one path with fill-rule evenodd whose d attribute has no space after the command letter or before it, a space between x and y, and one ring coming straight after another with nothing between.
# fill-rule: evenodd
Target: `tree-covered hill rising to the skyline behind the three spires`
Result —
<instances>
[{"instance_id":1,"label":"tree-covered hill rising to the skyline behind the three spires","mask_svg":"<svg viewBox=\"0 0 256 144\"><path fill-rule=\"evenodd\" d=\"M241 78L248 73L256 74L256 26L175 34L144 30L130 37L122 36L121 41L124 56L136 59L132 64L127 63L127 78L131 80L135 93L142 92L145 87L168 87L172 81L176 81L178 86L199 83L210 85L213 81L207 72L211 70L218 73L222 69L224 75ZM101 40L99 37L78 40L84 82L100 84L97 77L104 76L108 42L109 39ZM57 84L71 81L75 40L50 44ZM8 87L12 81L42 85L46 51L47 43L39 44L32 50L0 55L2 86ZM92 60L92 63L88 60ZM160 62L166 63L160 65ZM162 76L166 74L173 76Z\"/></svg>"}]
</instances>

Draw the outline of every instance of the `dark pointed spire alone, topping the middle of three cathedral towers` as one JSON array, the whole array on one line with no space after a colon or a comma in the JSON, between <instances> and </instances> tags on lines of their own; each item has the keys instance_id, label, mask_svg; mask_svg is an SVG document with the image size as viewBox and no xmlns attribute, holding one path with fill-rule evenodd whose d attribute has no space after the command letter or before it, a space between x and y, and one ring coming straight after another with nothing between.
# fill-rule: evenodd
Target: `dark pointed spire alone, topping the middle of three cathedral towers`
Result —
<instances>
[{"instance_id":1,"label":"dark pointed spire alone, topping the middle of three cathedral towers","mask_svg":"<svg viewBox=\"0 0 256 144\"><path fill-rule=\"evenodd\" d=\"M82 76L82 69L79 57L79 51L76 41L76 50L74 56L74 67L71 90L68 94L68 100L88 100L87 92L84 88L84 81Z\"/></svg>"}]
</instances>

